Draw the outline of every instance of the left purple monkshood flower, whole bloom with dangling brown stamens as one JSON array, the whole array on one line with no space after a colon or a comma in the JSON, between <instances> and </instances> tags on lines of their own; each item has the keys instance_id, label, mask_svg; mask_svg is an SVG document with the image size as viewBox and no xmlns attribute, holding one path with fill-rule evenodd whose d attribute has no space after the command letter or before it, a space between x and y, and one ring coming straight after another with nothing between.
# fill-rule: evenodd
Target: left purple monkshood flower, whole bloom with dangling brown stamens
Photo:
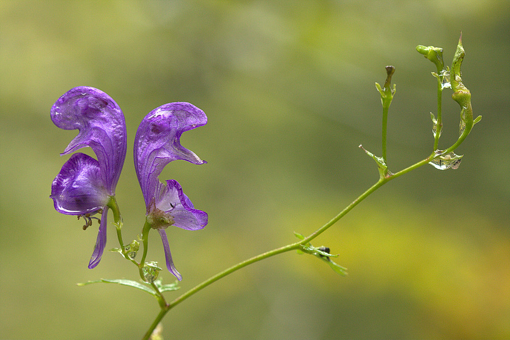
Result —
<instances>
[{"instance_id":1,"label":"left purple monkshood flower, whole bloom with dangling brown stamens","mask_svg":"<svg viewBox=\"0 0 510 340\"><path fill-rule=\"evenodd\" d=\"M84 229L92 225L91 215L100 213L97 241L89 268L101 260L106 245L108 204L126 155L126 126L120 107L105 92L79 86L64 93L50 112L61 129L80 132L61 155L90 147L97 160L83 153L73 154L52 184L55 209L66 215L84 216Z\"/></svg>"}]
</instances>

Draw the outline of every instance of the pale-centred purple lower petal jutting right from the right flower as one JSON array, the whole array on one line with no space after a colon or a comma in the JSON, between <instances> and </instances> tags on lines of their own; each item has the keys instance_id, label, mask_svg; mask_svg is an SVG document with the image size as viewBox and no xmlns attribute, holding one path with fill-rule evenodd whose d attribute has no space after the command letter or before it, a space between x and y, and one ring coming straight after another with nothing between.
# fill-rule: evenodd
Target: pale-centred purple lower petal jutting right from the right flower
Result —
<instances>
[{"instance_id":1,"label":"pale-centred purple lower petal jutting right from the right flower","mask_svg":"<svg viewBox=\"0 0 510 340\"><path fill-rule=\"evenodd\" d=\"M207 225L207 213L193 208L193 203L176 180L168 180L166 185L159 183L155 196L156 207L172 217L173 226L198 230Z\"/></svg>"}]
</instances>

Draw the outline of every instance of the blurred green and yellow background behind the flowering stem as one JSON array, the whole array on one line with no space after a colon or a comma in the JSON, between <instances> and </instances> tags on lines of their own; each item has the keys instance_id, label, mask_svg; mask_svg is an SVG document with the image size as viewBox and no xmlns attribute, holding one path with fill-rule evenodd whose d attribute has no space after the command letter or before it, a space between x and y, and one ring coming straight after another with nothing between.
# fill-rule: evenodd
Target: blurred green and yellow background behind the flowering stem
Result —
<instances>
[{"instance_id":1,"label":"blurred green and yellow background behind the flowering stem","mask_svg":"<svg viewBox=\"0 0 510 340\"><path fill-rule=\"evenodd\" d=\"M77 131L49 109L74 86L122 108L128 152L117 186L124 239L145 206L132 145L150 110L187 101L209 123L185 147L208 164L172 162L209 213L197 232L168 229L180 292L327 222L377 180L381 108L374 82L394 65L391 171L432 147L435 66L418 44L444 47L459 31L463 79L481 123L456 171L426 166L376 191L317 238L339 253L340 277L312 256L251 265L171 310L165 339L509 338L510 75L508 1L97 1L0 3L0 338L139 338L156 300L98 278L138 279L105 253L87 269L97 233L59 214L50 185ZM440 148L456 140L458 105L444 95ZM152 233L150 260L163 250ZM116 247L114 228L108 248ZM169 273L162 274L172 282Z\"/></svg>"}]
</instances>

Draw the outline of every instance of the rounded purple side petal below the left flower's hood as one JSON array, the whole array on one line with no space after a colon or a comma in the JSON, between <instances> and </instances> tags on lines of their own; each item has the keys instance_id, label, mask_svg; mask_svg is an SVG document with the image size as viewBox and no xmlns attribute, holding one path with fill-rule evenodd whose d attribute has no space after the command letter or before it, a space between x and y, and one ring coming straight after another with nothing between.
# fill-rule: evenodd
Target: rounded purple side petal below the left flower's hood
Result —
<instances>
[{"instance_id":1,"label":"rounded purple side petal below the left flower's hood","mask_svg":"<svg viewBox=\"0 0 510 340\"><path fill-rule=\"evenodd\" d=\"M66 215L83 215L102 209L108 191L100 178L99 163L76 153L64 163L52 184L55 209Z\"/></svg>"}]
</instances>

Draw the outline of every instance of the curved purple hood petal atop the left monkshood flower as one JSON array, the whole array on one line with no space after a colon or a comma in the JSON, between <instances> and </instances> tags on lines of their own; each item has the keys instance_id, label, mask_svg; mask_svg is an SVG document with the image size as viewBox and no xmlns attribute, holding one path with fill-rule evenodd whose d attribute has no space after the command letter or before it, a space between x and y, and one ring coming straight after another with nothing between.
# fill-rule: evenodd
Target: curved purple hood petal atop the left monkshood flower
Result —
<instances>
[{"instance_id":1,"label":"curved purple hood petal atop the left monkshood flower","mask_svg":"<svg viewBox=\"0 0 510 340\"><path fill-rule=\"evenodd\" d=\"M113 195L126 154L126 127L122 110L105 92L93 87L74 87L53 105L50 115L61 129L78 129L78 135L62 153L87 145L99 162L101 179Z\"/></svg>"}]
</instances>

